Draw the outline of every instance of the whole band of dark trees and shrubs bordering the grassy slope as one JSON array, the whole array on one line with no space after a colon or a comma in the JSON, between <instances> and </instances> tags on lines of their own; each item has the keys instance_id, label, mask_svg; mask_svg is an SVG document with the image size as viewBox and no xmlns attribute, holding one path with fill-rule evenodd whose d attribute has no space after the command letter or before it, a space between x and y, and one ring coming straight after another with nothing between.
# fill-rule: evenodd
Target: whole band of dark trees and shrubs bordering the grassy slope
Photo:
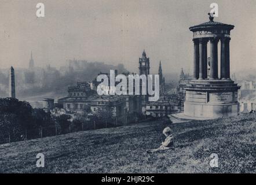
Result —
<instances>
[{"instance_id":1,"label":"whole band of dark trees and shrubs bordering the grassy slope","mask_svg":"<svg viewBox=\"0 0 256 185\"><path fill-rule=\"evenodd\" d=\"M90 116L89 113L90 108L85 107L83 113L75 114L73 118L69 114L53 116L43 109L33 109L28 102L0 98L0 144L159 119L141 115L134 117L134 113L116 118L111 108L98 110Z\"/></svg>"}]
</instances>

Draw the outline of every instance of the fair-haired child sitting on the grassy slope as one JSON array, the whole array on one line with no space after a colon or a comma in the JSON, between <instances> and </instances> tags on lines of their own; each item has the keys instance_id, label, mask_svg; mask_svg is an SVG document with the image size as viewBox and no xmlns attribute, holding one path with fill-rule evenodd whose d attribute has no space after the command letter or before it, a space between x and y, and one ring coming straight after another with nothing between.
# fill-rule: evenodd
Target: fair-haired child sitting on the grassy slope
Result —
<instances>
[{"instance_id":1,"label":"fair-haired child sitting on the grassy slope","mask_svg":"<svg viewBox=\"0 0 256 185\"><path fill-rule=\"evenodd\" d=\"M171 134L170 127L164 128L163 134L164 134L164 136L166 136L166 139L164 140L164 142L162 142L162 145L157 149L147 150L147 153L154 153L156 151L174 149L173 135Z\"/></svg>"}]
</instances>

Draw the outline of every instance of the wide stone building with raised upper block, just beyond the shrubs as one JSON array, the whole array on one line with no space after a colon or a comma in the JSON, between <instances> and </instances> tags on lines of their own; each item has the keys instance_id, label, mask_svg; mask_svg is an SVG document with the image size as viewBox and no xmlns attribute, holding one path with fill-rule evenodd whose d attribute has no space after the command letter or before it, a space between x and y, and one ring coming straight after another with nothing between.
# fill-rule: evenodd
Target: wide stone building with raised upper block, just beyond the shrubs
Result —
<instances>
[{"instance_id":1,"label":"wide stone building with raised upper block, just beyond the shrubs","mask_svg":"<svg viewBox=\"0 0 256 185\"><path fill-rule=\"evenodd\" d=\"M90 83L78 82L68 87L68 96L58 99L58 103L68 113L82 113L87 107L93 114L111 110L112 116L123 123L127 115L141 114L140 95L97 95L91 87Z\"/></svg>"}]
</instances>

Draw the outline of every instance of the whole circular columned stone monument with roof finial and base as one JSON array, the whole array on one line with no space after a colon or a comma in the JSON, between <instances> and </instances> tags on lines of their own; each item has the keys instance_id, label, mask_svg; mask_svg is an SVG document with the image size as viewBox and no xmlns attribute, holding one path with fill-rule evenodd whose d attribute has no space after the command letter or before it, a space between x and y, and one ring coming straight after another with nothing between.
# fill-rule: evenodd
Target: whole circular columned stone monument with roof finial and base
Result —
<instances>
[{"instance_id":1,"label":"whole circular columned stone monument with roof finial and base","mask_svg":"<svg viewBox=\"0 0 256 185\"><path fill-rule=\"evenodd\" d=\"M189 28L193 32L193 80L186 85L184 115L191 119L215 119L239 113L237 90L230 78L229 42L233 25L210 21ZM220 75L218 43L220 42ZM210 43L210 71L207 69L207 43Z\"/></svg>"}]
</instances>

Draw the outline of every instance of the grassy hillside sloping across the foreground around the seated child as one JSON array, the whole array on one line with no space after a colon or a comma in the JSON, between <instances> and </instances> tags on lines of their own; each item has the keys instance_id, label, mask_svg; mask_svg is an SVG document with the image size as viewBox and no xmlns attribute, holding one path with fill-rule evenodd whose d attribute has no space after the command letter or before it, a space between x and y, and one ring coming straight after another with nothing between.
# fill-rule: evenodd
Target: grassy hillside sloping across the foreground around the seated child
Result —
<instances>
[{"instance_id":1,"label":"grassy hillside sloping across the foreground around the seated child","mask_svg":"<svg viewBox=\"0 0 256 185\"><path fill-rule=\"evenodd\" d=\"M166 121L76 132L0 145L0 172L256 172L256 114L169 124L175 150L147 154L162 142ZM45 168L36 168L36 154ZM210 154L219 167L210 168Z\"/></svg>"}]
</instances>

